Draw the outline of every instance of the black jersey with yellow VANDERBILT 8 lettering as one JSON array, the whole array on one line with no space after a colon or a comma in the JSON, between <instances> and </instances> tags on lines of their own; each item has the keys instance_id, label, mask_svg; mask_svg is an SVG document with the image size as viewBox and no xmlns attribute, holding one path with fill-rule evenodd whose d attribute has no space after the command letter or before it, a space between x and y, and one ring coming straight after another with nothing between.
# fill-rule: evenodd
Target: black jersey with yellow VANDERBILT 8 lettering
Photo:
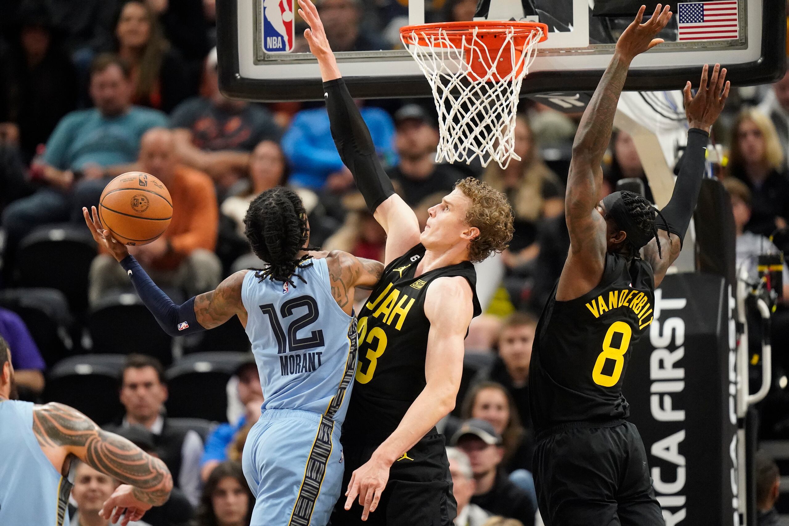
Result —
<instances>
[{"instance_id":1,"label":"black jersey with yellow VANDERBILT 8 lettering","mask_svg":"<svg viewBox=\"0 0 789 526\"><path fill-rule=\"evenodd\" d=\"M558 301L556 286L540 316L529 367L536 431L627 418L623 377L631 349L653 319L651 265L609 253L603 278L591 292Z\"/></svg>"}]
</instances>

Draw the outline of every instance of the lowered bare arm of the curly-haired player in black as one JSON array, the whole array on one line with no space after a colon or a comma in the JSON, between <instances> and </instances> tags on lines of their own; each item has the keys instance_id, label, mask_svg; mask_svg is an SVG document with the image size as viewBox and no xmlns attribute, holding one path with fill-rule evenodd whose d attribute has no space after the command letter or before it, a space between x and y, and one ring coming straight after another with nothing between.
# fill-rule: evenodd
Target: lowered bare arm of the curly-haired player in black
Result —
<instances>
[{"instance_id":1,"label":"lowered bare arm of the curly-haired player in black","mask_svg":"<svg viewBox=\"0 0 789 526\"><path fill-rule=\"evenodd\" d=\"M454 409L463 374L463 341L473 314L473 294L466 278L438 278L429 285L424 300L424 315L430 321L424 390L397 429L351 476L345 508L350 509L358 495L359 504L365 508L362 520L376 510L391 465Z\"/></svg>"}]
</instances>

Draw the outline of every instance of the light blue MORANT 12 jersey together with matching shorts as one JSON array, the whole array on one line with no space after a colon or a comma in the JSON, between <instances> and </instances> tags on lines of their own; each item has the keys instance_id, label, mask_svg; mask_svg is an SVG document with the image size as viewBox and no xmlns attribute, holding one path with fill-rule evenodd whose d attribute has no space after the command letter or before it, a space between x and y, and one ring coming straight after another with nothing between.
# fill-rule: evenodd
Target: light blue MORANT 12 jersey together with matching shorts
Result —
<instances>
[{"instance_id":1,"label":"light blue MORANT 12 jersey together with matching shorts","mask_svg":"<svg viewBox=\"0 0 789 526\"><path fill-rule=\"evenodd\" d=\"M312 263L312 264L310 264ZM241 288L264 405L244 447L252 526L324 526L342 484L340 428L357 363L356 319L331 295L326 259L289 283Z\"/></svg>"}]
</instances>

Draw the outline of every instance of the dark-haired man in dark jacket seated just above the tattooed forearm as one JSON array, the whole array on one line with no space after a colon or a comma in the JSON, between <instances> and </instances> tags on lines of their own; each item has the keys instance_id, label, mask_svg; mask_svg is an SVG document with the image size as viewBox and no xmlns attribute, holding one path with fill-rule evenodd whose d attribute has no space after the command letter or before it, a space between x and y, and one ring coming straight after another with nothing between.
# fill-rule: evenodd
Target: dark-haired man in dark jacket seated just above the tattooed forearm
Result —
<instances>
[{"instance_id":1,"label":"dark-haired man in dark jacket seated just above the tattooed forearm","mask_svg":"<svg viewBox=\"0 0 789 526\"><path fill-rule=\"evenodd\" d=\"M130 354L121 375L121 404L125 408L121 427L137 424L153 433L156 450L170 468L173 483L196 505L200 500L203 441L196 431L167 423L167 386L162 364L151 356Z\"/></svg>"}]
</instances>

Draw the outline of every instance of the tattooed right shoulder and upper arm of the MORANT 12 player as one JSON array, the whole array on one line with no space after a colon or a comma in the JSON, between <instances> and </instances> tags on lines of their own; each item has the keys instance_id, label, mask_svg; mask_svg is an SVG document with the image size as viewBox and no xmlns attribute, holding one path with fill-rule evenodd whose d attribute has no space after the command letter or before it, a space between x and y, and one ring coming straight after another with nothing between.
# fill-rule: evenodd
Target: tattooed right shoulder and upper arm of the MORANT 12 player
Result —
<instances>
[{"instance_id":1,"label":"tattooed right shoulder and upper arm of the MORANT 12 player","mask_svg":"<svg viewBox=\"0 0 789 526\"><path fill-rule=\"evenodd\" d=\"M356 288L372 289L383 274L383 263L357 258L348 252L333 250L326 254L331 279L331 295L346 314L353 312Z\"/></svg>"}]
</instances>

